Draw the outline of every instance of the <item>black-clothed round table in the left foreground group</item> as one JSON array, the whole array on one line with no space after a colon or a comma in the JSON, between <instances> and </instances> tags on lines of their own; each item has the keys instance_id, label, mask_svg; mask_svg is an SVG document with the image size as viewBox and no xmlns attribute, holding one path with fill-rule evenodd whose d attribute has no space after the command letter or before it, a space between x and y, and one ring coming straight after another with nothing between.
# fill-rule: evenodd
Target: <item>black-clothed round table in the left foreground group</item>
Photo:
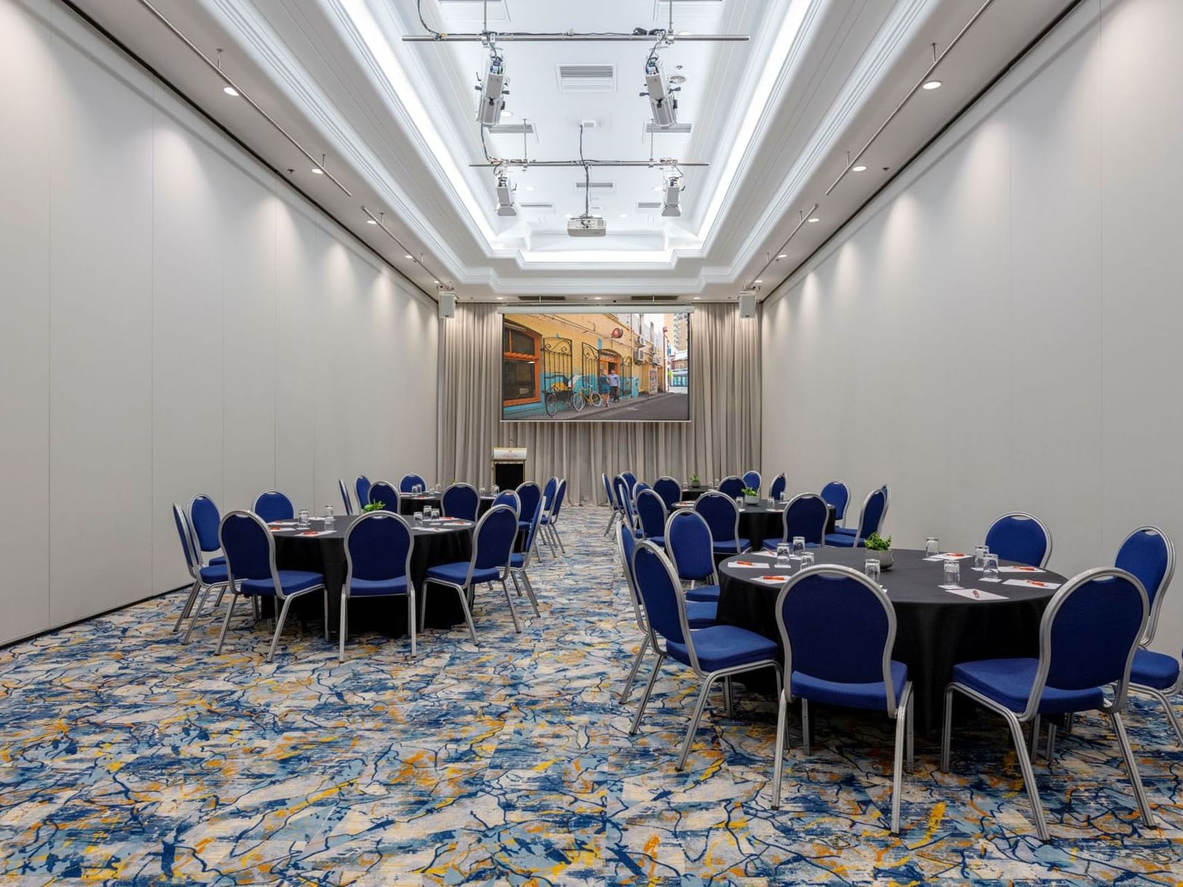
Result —
<instances>
[{"instance_id":1,"label":"black-clothed round table in the left foreground group","mask_svg":"<svg viewBox=\"0 0 1183 887\"><path fill-rule=\"evenodd\" d=\"M276 540L276 565L280 570L312 570L324 575L329 589L329 621L335 628L341 617L341 587L345 582L345 531L360 516L338 517L331 533L302 536L295 526L272 532ZM274 524L272 524L274 526ZM415 585L415 606L427 601L426 624L431 628L451 628L464 622L464 610L455 591L441 585L425 590L427 568L467 561L472 556L472 524L441 523L438 529L412 525L414 546L411 551L411 580ZM321 520L312 520L310 531L324 529ZM300 620L319 621L319 595L306 595L292 601L292 615ZM386 632L392 636L407 633L406 601L394 597L358 598L349 601L349 630Z\"/></svg>"}]
</instances>

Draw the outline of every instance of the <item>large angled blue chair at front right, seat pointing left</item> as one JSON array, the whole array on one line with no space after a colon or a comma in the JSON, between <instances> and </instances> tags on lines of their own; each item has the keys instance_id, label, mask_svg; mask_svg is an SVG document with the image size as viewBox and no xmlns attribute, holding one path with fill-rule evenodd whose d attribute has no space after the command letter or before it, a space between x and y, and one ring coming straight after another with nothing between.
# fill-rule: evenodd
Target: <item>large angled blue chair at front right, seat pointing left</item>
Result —
<instances>
[{"instance_id":1,"label":"large angled blue chair at front right, seat pointing left","mask_svg":"<svg viewBox=\"0 0 1183 887\"><path fill-rule=\"evenodd\" d=\"M1047 841L1047 821L1022 725L1030 723L1037 736L1041 716L1100 711L1113 724L1142 821L1156 828L1121 720L1130 666L1149 613L1146 593L1132 574L1114 568L1086 570L1066 582L1043 610L1037 659L987 659L953 666L952 681L945 688L940 770L949 772L953 693L997 712L1010 727L1035 831Z\"/></svg>"}]
</instances>

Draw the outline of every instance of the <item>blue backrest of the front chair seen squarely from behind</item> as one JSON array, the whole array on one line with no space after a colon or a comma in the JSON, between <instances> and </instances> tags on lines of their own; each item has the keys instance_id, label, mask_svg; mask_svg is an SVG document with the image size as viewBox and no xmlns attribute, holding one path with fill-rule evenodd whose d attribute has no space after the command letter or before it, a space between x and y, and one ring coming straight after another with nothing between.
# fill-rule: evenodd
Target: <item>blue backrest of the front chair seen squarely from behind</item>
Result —
<instances>
[{"instance_id":1,"label":"blue backrest of the front chair seen squarely from behind","mask_svg":"<svg viewBox=\"0 0 1183 887\"><path fill-rule=\"evenodd\" d=\"M776 604L786 674L838 684L884 681L888 714L894 713L896 614L873 582L847 566L812 566L786 584Z\"/></svg>"}]
</instances>

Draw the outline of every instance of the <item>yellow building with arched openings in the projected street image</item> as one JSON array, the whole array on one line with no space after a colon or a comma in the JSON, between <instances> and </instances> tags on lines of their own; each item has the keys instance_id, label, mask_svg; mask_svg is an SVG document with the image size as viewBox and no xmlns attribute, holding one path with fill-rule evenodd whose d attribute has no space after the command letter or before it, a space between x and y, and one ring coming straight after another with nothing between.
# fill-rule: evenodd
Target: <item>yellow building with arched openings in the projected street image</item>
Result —
<instances>
[{"instance_id":1,"label":"yellow building with arched openings in the projected street image","mask_svg":"<svg viewBox=\"0 0 1183 887\"><path fill-rule=\"evenodd\" d=\"M565 397L568 390L578 391L587 403L610 406L667 391L667 335L674 317L685 316L506 315L502 334L503 415L545 415L548 393ZM609 384L614 375L619 377L616 390Z\"/></svg>"}]
</instances>

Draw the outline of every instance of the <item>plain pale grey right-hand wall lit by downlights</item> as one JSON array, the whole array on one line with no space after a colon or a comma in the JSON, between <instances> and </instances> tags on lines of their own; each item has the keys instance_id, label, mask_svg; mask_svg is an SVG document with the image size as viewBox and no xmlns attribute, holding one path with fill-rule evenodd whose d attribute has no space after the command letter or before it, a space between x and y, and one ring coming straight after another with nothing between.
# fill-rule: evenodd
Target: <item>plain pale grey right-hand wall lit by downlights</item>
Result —
<instances>
[{"instance_id":1,"label":"plain pale grey right-hand wall lit by downlights","mask_svg":"<svg viewBox=\"0 0 1183 887\"><path fill-rule=\"evenodd\" d=\"M765 303L767 471L890 484L903 546L1009 510L1068 574L1183 543L1181 43L1178 0L1085 0Z\"/></svg>"}]
</instances>

